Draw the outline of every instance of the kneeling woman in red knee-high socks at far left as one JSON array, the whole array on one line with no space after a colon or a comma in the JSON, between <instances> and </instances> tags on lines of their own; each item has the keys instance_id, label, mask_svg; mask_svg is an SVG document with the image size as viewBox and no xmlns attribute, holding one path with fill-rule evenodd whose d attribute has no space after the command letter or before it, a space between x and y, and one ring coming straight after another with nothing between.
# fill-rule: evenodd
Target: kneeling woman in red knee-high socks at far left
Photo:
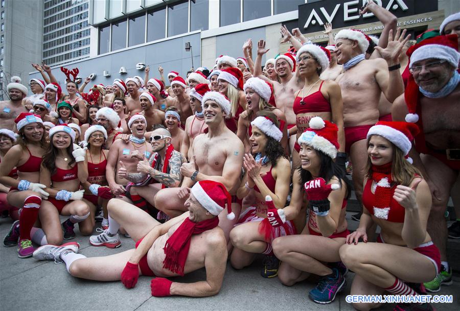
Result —
<instances>
[{"instance_id":1,"label":"kneeling woman in red knee-high socks at far left","mask_svg":"<svg viewBox=\"0 0 460 311\"><path fill-rule=\"evenodd\" d=\"M18 257L32 256L31 229L37 220L42 198L46 198L45 186L40 184L41 158L47 147L42 119L32 113L22 112L14 120L18 130L17 145L11 147L0 163L0 183L11 187L7 195L10 205L22 208L19 221L13 223L3 245L18 246ZM17 179L10 177L17 169Z\"/></svg>"}]
</instances>

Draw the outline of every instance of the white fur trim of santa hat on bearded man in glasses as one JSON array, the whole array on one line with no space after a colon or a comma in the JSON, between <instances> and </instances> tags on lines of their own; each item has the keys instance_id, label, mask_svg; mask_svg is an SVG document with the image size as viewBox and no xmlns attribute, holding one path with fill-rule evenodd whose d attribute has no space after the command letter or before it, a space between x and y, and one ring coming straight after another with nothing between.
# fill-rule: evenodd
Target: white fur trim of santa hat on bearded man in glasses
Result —
<instances>
[{"instance_id":1,"label":"white fur trim of santa hat on bearded man in glasses","mask_svg":"<svg viewBox=\"0 0 460 311\"><path fill-rule=\"evenodd\" d=\"M455 51L455 49L452 49L452 47L442 44L422 45L417 50L413 51L410 56L409 68L413 65L413 63L429 58L446 60L449 64L457 68L460 53Z\"/></svg>"}]
</instances>

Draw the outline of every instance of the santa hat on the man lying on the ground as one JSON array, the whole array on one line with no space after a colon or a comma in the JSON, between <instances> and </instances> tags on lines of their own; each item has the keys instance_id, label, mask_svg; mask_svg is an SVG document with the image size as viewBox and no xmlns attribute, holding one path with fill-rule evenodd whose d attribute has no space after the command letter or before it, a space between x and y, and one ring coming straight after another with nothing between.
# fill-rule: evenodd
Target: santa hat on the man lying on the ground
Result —
<instances>
[{"instance_id":1,"label":"santa hat on the man lying on the ground","mask_svg":"<svg viewBox=\"0 0 460 311\"><path fill-rule=\"evenodd\" d=\"M214 216L217 216L227 204L227 219L235 219L232 212L232 196L223 184L213 180L201 180L190 190L195 199Z\"/></svg>"}]
</instances>

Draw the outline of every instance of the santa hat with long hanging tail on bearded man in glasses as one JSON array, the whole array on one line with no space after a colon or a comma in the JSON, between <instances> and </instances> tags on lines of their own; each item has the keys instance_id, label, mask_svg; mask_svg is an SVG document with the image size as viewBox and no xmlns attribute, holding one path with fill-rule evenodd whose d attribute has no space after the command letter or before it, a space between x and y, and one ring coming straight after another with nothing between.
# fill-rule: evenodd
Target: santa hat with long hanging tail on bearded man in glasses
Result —
<instances>
[{"instance_id":1,"label":"santa hat with long hanging tail on bearded man in glasses","mask_svg":"<svg viewBox=\"0 0 460 311\"><path fill-rule=\"evenodd\" d=\"M457 68L460 54L457 52L458 41L457 35L436 36L425 39L420 43L412 45L407 50L409 56L409 68L415 62L435 58L446 60L454 68ZM419 86L416 84L413 76L409 76L406 89L404 91L404 99L406 101L407 110L406 122L416 123L419 121L417 114L417 103L419 101Z\"/></svg>"}]
</instances>

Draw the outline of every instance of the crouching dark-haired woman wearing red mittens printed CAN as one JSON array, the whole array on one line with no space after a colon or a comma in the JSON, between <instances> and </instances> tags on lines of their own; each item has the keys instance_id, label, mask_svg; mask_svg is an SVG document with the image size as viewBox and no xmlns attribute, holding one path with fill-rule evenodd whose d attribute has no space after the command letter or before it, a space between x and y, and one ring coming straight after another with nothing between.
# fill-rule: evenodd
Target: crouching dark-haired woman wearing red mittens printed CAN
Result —
<instances>
[{"instance_id":1,"label":"crouching dark-haired woman wearing red mittens printed CAN","mask_svg":"<svg viewBox=\"0 0 460 311\"><path fill-rule=\"evenodd\" d=\"M282 261L278 276L283 284L290 286L310 274L319 275L318 284L308 296L317 303L330 303L345 283L346 271L337 262L339 248L350 233L345 219L350 183L334 162L339 149L335 124L319 116L312 117L309 128L297 141L302 166L293 176L291 203L284 211L286 219L303 217L302 185L310 210L300 235L273 241L274 254Z\"/></svg>"}]
</instances>

